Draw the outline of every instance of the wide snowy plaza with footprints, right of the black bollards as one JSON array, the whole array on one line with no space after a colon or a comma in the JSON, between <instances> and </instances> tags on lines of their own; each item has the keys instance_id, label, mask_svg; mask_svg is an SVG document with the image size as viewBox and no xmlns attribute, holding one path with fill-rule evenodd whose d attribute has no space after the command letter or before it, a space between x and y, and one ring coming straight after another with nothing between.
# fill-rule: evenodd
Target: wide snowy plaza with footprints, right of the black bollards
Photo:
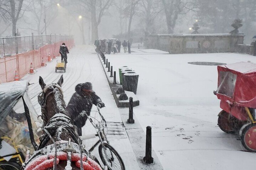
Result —
<instances>
[{"instance_id":1,"label":"wide snowy plaza with footprints, right of the black bollards","mask_svg":"<svg viewBox=\"0 0 256 170\"><path fill-rule=\"evenodd\" d=\"M135 107L134 112L144 131L146 126L152 126L153 149L166 170L254 167L255 154L246 152L241 141L236 140L237 136L218 128L220 100L213 94L217 88L217 66L188 64L248 60L256 63L254 56L131 50L132 54L110 54L106 58L117 73L118 68L125 65L139 74L140 106Z\"/></svg>"}]
</instances>

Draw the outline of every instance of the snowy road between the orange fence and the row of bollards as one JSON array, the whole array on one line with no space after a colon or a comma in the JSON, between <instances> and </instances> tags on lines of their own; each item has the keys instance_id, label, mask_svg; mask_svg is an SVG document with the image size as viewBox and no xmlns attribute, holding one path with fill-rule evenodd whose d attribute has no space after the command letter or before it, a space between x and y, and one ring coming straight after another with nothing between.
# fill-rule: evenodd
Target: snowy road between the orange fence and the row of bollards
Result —
<instances>
[{"instance_id":1,"label":"snowy road between the orange fence and the row of bollards","mask_svg":"<svg viewBox=\"0 0 256 170\"><path fill-rule=\"evenodd\" d=\"M60 59L60 57L58 57L58 59ZM91 82L93 84L93 90L101 97L106 105L105 108L101 109L101 113L107 122L122 122L102 66L100 65L100 60L97 54L95 54L93 46L77 46L73 48L70 54L68 54L66 73L62 71L55 73L55 64L56 61L54 60L48 63L48 66L38 69L36 74L23 77L23 79L29 80L30 83L35 83L29 86L28 94L38 113L41 113L41 108L37 101L37 95L41 92L41 88L38 84L39 76L42 76L44 82L48 84L57 82L61 74L63 74L64 83L62 88L66 103L68 103L72 94L75 92L74 88L78 83ZM96 108L93 107L92 110L96 110ZM94 115L95 114L91 113L91 116ZM83 134L92 133L95 133L95 130L90 122L87 121L86 126L83 128ZM125 133L124 136L124 138L110 136L110 144L118 151L127 169L139 169L127 134ZM97 140L98 138L90 139L84 141L84 144L86 148L89 149ZM92 155L96 155L97 158L100 159L97 147L92 152Z\"/></svg>"}]
</instances>

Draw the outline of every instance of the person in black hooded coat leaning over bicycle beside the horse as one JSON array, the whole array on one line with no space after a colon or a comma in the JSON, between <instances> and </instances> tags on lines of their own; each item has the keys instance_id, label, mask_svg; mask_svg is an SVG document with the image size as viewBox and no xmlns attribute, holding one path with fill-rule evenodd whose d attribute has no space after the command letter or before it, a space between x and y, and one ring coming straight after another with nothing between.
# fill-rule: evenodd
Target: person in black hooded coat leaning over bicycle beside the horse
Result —
<instances>
[{"instance_id":1,"label":"person in black hooded coat leaning over bicycle beside the horse","mask_svg":"<svg viewBox=\"0 0 256 170\"><path fill-rule=\"evenodd\" d=\"M87 115L90 115L93 104L100 108L105 107L105 104L92 90L90 82L78 84L75 91L67 104L67 111L71 120L74 121L74 125L77 126L79 136L82 136L82 127L85 125L87 117L81 116L80 113L85 111Z\"/></svg>"}]
</instances>

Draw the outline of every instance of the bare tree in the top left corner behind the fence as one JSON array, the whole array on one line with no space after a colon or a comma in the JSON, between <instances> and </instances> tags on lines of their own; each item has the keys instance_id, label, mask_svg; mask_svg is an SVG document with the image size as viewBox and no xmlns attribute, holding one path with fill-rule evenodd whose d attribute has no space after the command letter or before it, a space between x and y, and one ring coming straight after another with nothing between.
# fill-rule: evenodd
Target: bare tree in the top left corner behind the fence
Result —
<instances>
[{"instance_id":1,"label":"bare tree in the top left corner behind the fence","mask_svg":"<svg viewBox=\"0 0 256 170\"><path fill-rule=\"evenodd\" d=\"M2 18L7 22L12 22L12 36L16 34L16 24L21 13L23 0L1 0L0 13Z\"/></svg>"}]
</instances>

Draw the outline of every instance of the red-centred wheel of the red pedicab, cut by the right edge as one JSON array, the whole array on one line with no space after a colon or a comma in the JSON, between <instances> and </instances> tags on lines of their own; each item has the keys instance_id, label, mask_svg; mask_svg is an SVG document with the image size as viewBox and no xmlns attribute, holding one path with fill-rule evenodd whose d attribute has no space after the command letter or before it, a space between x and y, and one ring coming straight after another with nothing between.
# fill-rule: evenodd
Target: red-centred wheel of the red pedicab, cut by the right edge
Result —
<instances>
[{"instance_id":1,"label":"red-centred wheel of the red pedicab, cut by the right edge","mask_svg":"<svg viewBox=\"0 0 256 170\"><path fill-rule=\"evenodd\" d=\"M240 138L245 149L256 152L256 123L248 124L241 130Z\"/></svg>"}]
</instances>

